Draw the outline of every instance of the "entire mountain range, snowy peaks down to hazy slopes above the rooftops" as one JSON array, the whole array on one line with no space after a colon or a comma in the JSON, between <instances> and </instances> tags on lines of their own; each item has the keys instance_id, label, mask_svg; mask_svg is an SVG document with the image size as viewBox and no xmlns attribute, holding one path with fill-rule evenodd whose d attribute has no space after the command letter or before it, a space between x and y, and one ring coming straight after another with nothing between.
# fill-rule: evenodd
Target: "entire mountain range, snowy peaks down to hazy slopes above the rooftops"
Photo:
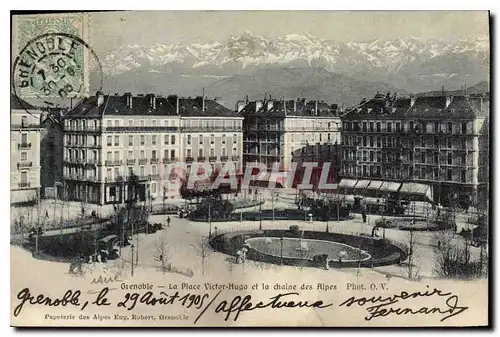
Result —
<instances>
[{"instance_id":1,"label":"entire mountain range, snowy peaks down to hazy slopes above the rooftops","mask_svg":"<svg viewBox=\"0 0 500 337\"><path fill-rule=\"evenodd\" d=\"M451 90L487 81L489 41L410 37L343 43L308 34L266 38L245 32L218 42L125 45L100 60L110 92L193 96L205 87L229 106L266 92L355 104L379 90Z\"/></svg>"}]
</instances>

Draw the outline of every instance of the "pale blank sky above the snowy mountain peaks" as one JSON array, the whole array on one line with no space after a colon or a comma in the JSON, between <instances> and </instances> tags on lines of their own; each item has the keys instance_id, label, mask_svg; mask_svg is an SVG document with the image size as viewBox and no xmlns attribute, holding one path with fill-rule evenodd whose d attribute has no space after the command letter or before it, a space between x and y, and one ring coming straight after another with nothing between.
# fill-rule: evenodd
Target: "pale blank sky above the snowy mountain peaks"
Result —
<instances>
[{"instance_id":1,"label":"pale blank sky above the snowy mountain peaks","mask_svg":"<svg viewBox=\"0 0 500 337\"><path fill-rule=\"evenodd\" d=\"M349 42L456 40L487 36L489 30L487 11L135 11L91 16L90 42L98 55L129 44L224 41L245 31Z\"/></svg>"}]
</instances>

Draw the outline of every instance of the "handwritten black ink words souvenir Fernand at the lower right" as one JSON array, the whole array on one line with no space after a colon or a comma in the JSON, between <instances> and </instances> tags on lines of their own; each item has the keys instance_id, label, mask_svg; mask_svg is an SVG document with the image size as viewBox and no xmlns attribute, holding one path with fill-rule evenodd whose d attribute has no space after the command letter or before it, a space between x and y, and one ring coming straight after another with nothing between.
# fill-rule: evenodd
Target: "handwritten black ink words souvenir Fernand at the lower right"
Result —
<instances>
[{"instance_id":1,"label":"handwritten black ink words souvenir Fernand at the lower right","mask_svg":"<svg viewBox=\"0 0 500 337\"><path fill-rule=\"evenodd\" d=\"M429 286L427 286L429 288ZM394 308L394 304L407 305L411 299L421 299L428 297L442 297L444 300L444 305L441 307L425 307L420 306L415 307L397 307ZM365 320L370 321L377 317L386 317L389 315L431 315L438 314L444 316L441 318L441 322L451 318L453 316L463 313L468 307L463 307L458 305L458 296L451 292L443 292L442 290L434 288L434 290L427 289L424 292L406 292L401 291L399 294L392 296L373 296L373 297L351 297L344 302L342 302L339 307L346 306L350 307L352 305L357 305L358 307L365 307L368 311L368 316ZM417 300L418 301L418 300ZM418 302L417 302L418 303Z\"/></svg>"}]
</instances>

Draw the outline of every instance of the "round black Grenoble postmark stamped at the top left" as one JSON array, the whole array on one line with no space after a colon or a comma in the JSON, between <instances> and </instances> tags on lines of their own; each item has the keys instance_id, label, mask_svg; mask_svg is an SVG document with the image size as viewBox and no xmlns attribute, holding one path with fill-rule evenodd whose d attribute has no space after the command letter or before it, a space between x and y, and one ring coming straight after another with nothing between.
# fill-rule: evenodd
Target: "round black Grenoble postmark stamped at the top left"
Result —
<instances>
[{"instance_id":1,"label":"round black Grenoble postmark stamped at the top left","mask_svg":"<svg viewBox=\"0 0 500 337\"><path fill-rule=\"evenodd\" d=\"M12 72L19 103L35 107L61 107L68 101L74 105L88 96L91 86L101 91L102 82L96 53L82 39L66 33L46 33L30 40L16 57Z\"/></svg>"}]
</instances>

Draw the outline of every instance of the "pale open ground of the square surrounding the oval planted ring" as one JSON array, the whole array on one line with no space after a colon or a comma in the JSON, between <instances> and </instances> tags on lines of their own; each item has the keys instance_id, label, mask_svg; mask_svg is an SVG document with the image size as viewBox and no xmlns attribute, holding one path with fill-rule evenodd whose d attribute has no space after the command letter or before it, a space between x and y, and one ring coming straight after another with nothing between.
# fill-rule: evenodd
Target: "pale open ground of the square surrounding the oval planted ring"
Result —
<instances>
[{"instance_id":1,"label":"pale open ground of the square surrounding the oval planted ring","mask_svg":"<svg viewBox=\"0 0 500 337\"><path fill-rule=\"evenodd\" d=\"M269 197L269 196L267 196ZM274 203L275 209L286 209L293 208L294 205L294 195L292 193L282 194ZM183 204L184 200L169 200L169 204ZM156 202L158 203L158 201ZM161 203L161 202L160 202ZM68 212L69 216L77 216L80 212L81 204L80 203L66 203L68 207L66 209L60 210L57 205L54 208L53 201L45 201L43 203L42 214L44 210L49 212L49 216L52 214L55 209L56 218L60 217L61 214L64 215L64 212ZM272 208L272 202L266 200L266 203L262 206L262 209L270 209ZM420 208L421 211L425 207L418 205L417 208ZM86 212L91 212L92 210L98 210L99 207L96 205L87 205ZM258 210L257 207L252 207L248 210ZM111 214L113 212L113 208L111 205L100 207L99 209L102 215ZM12 217L16 216L16 211L20 211L20 209L13 209ZM59 213L58 213L59 212ZM238 212L238 211L236 211ZM171 216L172 222L171 226L165 228L162 231L159 231L155 234L139 234L133 238L133 244L135 253L138 252L138 266L136 266L136 272L140 272L140 270L156 270L159 267L159 262L157 261L159 255L159 247L165 246L167 247L166 254L168 261L172 263L172 266L175 268L179 268L179 270L193 270L194 273L200 274L205 272L206 274L210 273L221 273L222 271L228 272L229 274L233 272L237 272L239 269L245 269L245 273L251 273L252 270L261 273L263 270L273 270L277 271L280 269L300 269L297 267L285 267L285 266L275 266L269 265L265 263L258 263L248 261L244 266L236 265L232 261L232 258L224 255L219 252L214 252L210 247L205 246L202 249L202 242L206 243L206 237L209 234L210 225L207 222L194 222L188 219L180 219L176 216ZM346 221L329 221L328 229L331 232L340 232L346 234L365 234L371 235L373 224L380 216L377 215L369 215L368 222L363 223L361 220L360 214L353 214L353 218ZM466 214L459 214L457 217L457 222L459 223L459 227L467 228L468 225L466 223ZM164 223L165 216L164 215L153 215L150 218L150 222L160 222ZM259 221L233 221L233 222L215 222L213 221L211 224L212 232L220 232L220 231L230 231L230 230L246 230L246 229L258 229ZM303 230L314 230L314 231L326 231L327 223L324 221L262 221L263 229L288 229L291 225L298 225L300 229ZM460 229L459 229L460 230ZM56 230L57 231L57 230ZM59 232L58 232L59 233ZM47 233L49 234L49 233ZM433 277L433 269L434 269L434 260L435 260L435 250L437 246L436 234L432 232L416 232L416 247L414 250L414 260L415 265L419 270L419 275L421 277ZM400 243L407 243L409 241L409 232L398 229L386 229L385 236L389 239L396 240ZM456 236L455 240L463 240L461 237ZM13 253L25 256L29 254L26 251L23 251L21 248L13 247ZM479 256L479 248L472 247L472 258L478 258ZM203 252L202 252L203 250ZM205 258L202 258L202 255L206 255ZM118 264L120 268L130 268L130 259L131 259L131 247L123 248L122 258L125 262L119 260L111 261L110 264ZM134 258L134 260L137 256ZM47 261L35 260L31 258L26 258L26 261L30 260L30 264L43 265L47 263ZM202 265L202 260L204 260L204 265ZM63 264L64 266L60 266L62 269L67 269L68 264ZM311 268L308 268L311 269ZM241 271L243 272L243 271ZM378 275L380 277L406 277L406 268L404 266L392 265L392 266L384 266L384 267L376 267L376 268L361 268L361 270L357 270L357 268L349 269L345 268L341 271L332 270L332 271L320 271L314 270L311 272L313 274L316 273L345 273L351 275ZM258 277L255 274L253 277Z\"/></svg>"}]
</instances>

